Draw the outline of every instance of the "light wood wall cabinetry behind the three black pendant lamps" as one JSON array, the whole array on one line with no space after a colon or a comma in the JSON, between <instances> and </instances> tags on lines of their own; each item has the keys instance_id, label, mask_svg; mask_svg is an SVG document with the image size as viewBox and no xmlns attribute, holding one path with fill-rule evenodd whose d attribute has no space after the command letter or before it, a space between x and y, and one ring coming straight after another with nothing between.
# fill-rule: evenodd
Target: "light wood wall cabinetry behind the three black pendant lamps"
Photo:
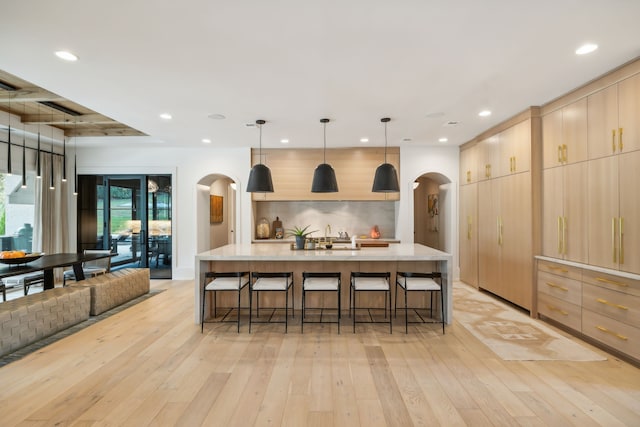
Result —
<instances>
[{"instance_id":1,"label":"light wood wall cabinetry behind the three black pendant lamps","mask_svg":"<svg viewBox=\"0 0 640 427\"><path fill-rule=\"evenodd\" d=\"M253 152L253 164L258 163ZM387 163L400 176L400 149L387 148ZM371 191L375 171L384 162L384 148L328 149L326 162L336 172L337 193L312 193L313 172L324 161L321 149L262 150L262 163L271 170L273 193L253 193L253 200L399 200L400 193Z\"/></svg>"}]
</instances>

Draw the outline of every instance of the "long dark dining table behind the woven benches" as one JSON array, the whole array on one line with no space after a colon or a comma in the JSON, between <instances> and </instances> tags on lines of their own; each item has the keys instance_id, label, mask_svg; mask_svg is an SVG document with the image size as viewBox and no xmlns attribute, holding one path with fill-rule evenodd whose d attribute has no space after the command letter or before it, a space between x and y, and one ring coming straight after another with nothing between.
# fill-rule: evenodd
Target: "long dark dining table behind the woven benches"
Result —
<instances>
[{"instance_id":1,"label":"long dark dining table behind the woven benches","mask_svg":"<svg viewBox=\"0 0 640 427\"><path fill-rule=\"evenodd\" d=\"M84 280L84 271L82 270L82 263L86 261L93 261L100 258L106 258L110 255L94 254L94 253L59 253L59 254L45 254L40 258L30 262L16 264L1 264L0 266L0 279L5 277L17 276L20 274L33 273L42 271L44 275L43 288L53 289L55 287L55 280L53 271L55 268L60 267L72 267L73 273L76 276L76 280ZM27 258L28 259L28 258ZM1 261L0 261L1 263Z\"/></svg>"}]
</instances>

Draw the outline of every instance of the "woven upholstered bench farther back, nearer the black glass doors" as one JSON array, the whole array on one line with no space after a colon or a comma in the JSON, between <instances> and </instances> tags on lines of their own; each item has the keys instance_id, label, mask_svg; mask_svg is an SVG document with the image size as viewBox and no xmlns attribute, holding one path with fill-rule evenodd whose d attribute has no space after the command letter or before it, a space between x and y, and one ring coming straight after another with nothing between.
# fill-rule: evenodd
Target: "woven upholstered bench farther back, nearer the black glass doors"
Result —
<instances>
[{"instance_id":1,"label":"woven upholstered bench farther back, nearer the black glass doors","mask_svg":"<svg viewBox=\"0 0 640 427\"><path fill-rule=\"evenodd\" d=\"M149 292L148 268L125 268L76 282L70 287L89 288L90 314L97 316Z\"/></svg>"}]
</instances>

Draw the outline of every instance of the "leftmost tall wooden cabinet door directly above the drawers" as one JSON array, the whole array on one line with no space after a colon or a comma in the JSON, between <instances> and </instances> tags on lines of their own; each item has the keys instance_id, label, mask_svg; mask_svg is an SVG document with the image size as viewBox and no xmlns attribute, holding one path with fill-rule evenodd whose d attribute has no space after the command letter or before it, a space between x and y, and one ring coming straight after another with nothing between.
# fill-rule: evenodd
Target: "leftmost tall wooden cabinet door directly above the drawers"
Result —
<instances>
[{"instance_id":1,"label":"leftmost tall wooden cabinet door directly above the drawers","mask_svg":"<svg viewBox=\"0 0 640 427\"><path fill-rule=\"evenodd\" d=\"M542 254L563 258L564 168L542 171Z\"/></svg>"}]
</instances>

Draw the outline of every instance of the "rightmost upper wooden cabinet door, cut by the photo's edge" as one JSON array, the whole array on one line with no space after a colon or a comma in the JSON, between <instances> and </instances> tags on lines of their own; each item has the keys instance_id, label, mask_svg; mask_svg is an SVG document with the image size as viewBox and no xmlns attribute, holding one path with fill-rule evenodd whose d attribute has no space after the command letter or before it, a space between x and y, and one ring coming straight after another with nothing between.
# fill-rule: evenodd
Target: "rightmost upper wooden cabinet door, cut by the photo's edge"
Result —
<instances>
[{"instance_id":1,"label":"rightmost upper wooden cabinet door, cut by the photo's edge","mask_svg":"<svg viewBox=\"0 0 640 427\"><path fill-rule=\"evenodd\" d=\"M640 150L640 74L618 84L618 151Z\"/></svg>"}]
</instances>

